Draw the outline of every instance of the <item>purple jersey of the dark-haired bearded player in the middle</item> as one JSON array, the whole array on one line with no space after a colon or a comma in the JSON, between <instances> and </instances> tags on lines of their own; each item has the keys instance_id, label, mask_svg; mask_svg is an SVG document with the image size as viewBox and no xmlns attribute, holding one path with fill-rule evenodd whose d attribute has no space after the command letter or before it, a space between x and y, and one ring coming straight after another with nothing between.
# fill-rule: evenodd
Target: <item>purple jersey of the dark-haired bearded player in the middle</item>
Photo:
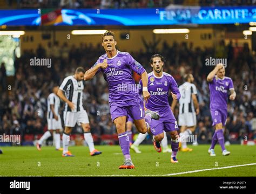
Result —
<instances>
[{"instance_id":1,"label":"purple jersey of the dark-haired bearded player in the middle","mask_svg":"<svg viewBox=\"0 0 256 194\"><path fill-rule=\"evenodd\" d=\"M142 81L139 82L139 93L142 93ZM154 76L154 73L149 73L149 83L147 85L150 93L150 98L146 103L146 108L157 111L160 118L172 117L175 119L168 101L169 91L176 94L178 100L180 99L179 88L177 82L174 80L172 75L163 72L163 75L158 78ZM170 113L171 112L171 113Z\"/></svg>"}]
</instances>

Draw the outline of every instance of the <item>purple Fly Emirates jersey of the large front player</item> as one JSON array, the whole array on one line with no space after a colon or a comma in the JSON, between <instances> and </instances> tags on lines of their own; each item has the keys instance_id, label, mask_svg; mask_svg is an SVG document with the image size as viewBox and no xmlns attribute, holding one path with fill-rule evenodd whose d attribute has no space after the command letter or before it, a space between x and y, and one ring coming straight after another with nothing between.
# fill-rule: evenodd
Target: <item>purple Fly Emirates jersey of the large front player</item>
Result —
<instances>
[{"instance_id":1,"label":"purple Fly Emirates jersey of the large front player","mask_svg":"<svg viewBox=\"0 0 256 194\"><path fill-rule=\"evenodd\" d=\"M146 71L143 66L127 52L117 51L116 56L112 58L107 58L107 54L103 54L95 65L103 63L104 59L107 59L108 66L105 70L99 68L97 73L101 71L109 85L109 102L122 102L139 98L135 81L132 78L132 70L141 75Z\"/></svg>"}]
</instances>

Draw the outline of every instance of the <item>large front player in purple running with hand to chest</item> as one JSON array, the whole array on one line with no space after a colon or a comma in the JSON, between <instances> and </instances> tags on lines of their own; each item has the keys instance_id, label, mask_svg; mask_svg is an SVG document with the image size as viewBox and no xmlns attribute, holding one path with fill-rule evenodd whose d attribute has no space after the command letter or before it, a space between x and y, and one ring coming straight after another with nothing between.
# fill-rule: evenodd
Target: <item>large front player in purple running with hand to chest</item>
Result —
<instances>
[{"instance_id":1,"label":"large front player in purple running with hand to chest","mask_svg":"<svg viewBox=\"0 0 256 194\"><path fill-rule=\"evenodd\" d=\"M119 144L125 158L124 164L120 165L119 169L134 169L130 156L129 136L125 131L126 117L130 115L137 130L145 134L150 127L151 119L159 119L159 115L150 110L144 114L143 101L134 87L136 85L132 78L132 70L142 75L144 99L147 101L150 98L147 91L146 70L129 53L116 50L116 45L114 33L106 31L102 36L102 46L106 53L85 72L84 80L92 79L98 72L104 74L104 79L109 85L111 119L116 126Z\"/></svg>"}]
</instances>

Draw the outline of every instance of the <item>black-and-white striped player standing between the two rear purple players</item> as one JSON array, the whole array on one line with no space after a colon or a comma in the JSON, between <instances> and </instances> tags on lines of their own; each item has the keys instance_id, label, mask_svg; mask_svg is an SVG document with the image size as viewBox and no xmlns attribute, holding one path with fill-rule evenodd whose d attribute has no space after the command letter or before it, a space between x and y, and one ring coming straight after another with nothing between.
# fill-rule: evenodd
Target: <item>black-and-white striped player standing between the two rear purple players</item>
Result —
<instances>
[{"instance_id":1,"label":"black-and-white striped player standing between the two rear purple players","mask_svg":"<svg viewBox=\"0 0 256 194\"><path fill-rule=\"evenodd\" d=\"M192 151L187 147L188 137L192 135L197 125L197 116L199 114L199 105L197 101L197 88L193 84L194 77L187 74L184 77L185 83L179 86L181 98L179 99L179 126L180 127L180 151ZM172 102L172 109L177 101ZM196 141L195 141L196 142Z\"/></svg>"}]
</instances>

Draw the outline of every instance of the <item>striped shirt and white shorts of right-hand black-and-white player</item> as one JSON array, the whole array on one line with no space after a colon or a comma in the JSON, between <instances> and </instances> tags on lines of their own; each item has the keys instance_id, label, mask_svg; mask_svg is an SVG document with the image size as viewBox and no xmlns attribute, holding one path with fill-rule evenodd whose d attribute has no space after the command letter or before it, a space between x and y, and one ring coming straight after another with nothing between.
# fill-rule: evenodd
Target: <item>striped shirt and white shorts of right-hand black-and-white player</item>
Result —
<instances>
[{"instance_id":1,"label":"striped shirt and white shorts of right-hand black-and-white player","mask_svg":"<svg viewBox=\"0 0 256 194\"><path fill-rule=\"evenodd\" d=\"M181 98L179 99L179 126L196 126L197 117L194 109L192 94L197 95L197 88L190 82L179 86Z\"/></svg>"}]
</instances>

